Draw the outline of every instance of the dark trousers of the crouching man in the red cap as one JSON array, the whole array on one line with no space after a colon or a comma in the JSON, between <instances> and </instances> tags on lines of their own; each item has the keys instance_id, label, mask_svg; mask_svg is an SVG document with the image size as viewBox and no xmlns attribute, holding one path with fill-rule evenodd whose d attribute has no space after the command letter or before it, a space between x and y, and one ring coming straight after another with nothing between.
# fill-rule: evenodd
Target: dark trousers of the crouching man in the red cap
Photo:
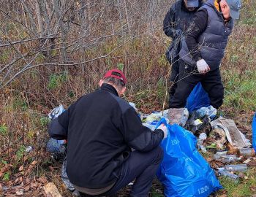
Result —
<instances>
[{"instance_id":1,"label":"dark trousers of the crouching man in the red cap","mask_svg":"<svg viewBox=\"0 0 256 197\"><path fill-rule=\"evenodd\" d=\"M100 196L114 196L118 190L121 190L135 179L129 196L147 197L162 157L161 147L156 147L149 152L131 152L127 161L121 166L121 174L116 184ZM86 195L81 193L81 196Z\"/></svg>"}]
</instances>

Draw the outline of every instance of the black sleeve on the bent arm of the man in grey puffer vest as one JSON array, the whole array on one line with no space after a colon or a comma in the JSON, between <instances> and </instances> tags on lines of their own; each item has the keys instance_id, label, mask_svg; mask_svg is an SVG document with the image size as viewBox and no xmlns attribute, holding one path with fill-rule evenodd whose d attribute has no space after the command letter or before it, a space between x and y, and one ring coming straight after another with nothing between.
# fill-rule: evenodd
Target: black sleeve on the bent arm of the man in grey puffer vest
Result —
<instances>
[{"instance_id":1,"label":"black sleeve on the bent arm of the man in grey puffer vest","mask_svg":"<svg viewBox=\"0 0 256 197\"><path fill-rule=\"evenodd\" d=\"M186 44L193 60L198 61L201 58L200 46L197 39L203 34L208 24L208 12L206 9L200 9L195 13L192 23L189 26L189 33L186 36Z\"/></svg>"}]
</instances>

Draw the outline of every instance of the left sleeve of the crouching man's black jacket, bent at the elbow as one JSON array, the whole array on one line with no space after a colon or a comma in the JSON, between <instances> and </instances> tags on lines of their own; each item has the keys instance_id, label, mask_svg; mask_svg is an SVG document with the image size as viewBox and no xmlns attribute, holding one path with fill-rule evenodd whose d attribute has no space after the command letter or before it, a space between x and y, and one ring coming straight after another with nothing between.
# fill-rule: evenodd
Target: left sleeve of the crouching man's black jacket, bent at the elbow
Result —
<instances>
[{"instance_id":1,"label":"left sleeve of the crouching man's black jacket, bent at the elbow","mask_svg":"<svg viewBox=\"0 0 256 197\"><path fill-rule=\"evenodd\" d=\"M48 134L53 139L67 139L69 109L50 122Z\"/></svg>"}]
</instances>

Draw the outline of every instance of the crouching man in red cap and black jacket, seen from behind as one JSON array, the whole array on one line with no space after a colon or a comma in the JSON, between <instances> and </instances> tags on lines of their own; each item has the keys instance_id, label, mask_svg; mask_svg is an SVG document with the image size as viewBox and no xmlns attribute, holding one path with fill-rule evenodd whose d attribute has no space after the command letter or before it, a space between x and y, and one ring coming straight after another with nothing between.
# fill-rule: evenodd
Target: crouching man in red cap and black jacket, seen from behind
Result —
<instances>
[{"instance_id":1,"label":"crouching man in red cap and black jacket, seen from behind","mask_svg":"<svg viewBox=\"0 0 256 197\"><path fill-rule=\"evenodd\" d=\"M119 96L127 80L108 71L100 88L80 97L50 124L54 139L67 139L67 175L81 196L109 196L135 179L130 196L148 196L162 161L165 125L143 126L135 109ZM131 148L135 149L132 151Z\"/></svg>"}]
</instances>

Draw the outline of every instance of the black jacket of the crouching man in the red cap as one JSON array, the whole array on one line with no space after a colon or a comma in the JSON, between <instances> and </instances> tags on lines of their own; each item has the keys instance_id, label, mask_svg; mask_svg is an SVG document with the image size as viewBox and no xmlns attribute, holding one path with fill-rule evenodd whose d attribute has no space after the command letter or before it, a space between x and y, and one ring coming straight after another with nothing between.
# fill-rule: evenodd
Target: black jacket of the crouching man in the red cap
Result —
<instances>
[{"instance_id":1,"label":"black jacket of the crouching man in the red cap","mask_svg":"<svg viewBox=\"0 0 256 197\"><path fill-rule=\"evenodd\" d=\"M112 85L82 96L50 124L54 139L67 139L67 175L72 184L104 188L118 179L131 147L141 152L161 142L162 130L142 125Z\"/></svg>"}]
</instances>

